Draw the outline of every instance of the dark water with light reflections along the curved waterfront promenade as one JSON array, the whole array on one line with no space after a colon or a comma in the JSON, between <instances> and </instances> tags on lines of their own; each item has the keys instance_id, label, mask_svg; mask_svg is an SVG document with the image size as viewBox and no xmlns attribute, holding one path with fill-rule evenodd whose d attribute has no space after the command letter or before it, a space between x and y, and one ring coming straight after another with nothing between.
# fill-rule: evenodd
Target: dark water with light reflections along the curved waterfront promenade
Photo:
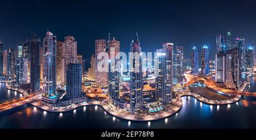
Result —
<instances>
[{"instance_id":1,"label":"dark water with light reflections along the curved waterfront promenade","mask_svg":"<svg viewBox=\"0 0 256 140\"><path fill-rule=\"evenodd\" d=\"M14 92L11 91L10 95ZM76 116L73 116L73 111L44 113L41 109L34 111L33 106L26 104L0 114L0 128L256 128L256 98L242 97L236 104L216 105L217 111L215 105L211 107L192 96L190 102L188 96L181 99L183 106L174 116L150 122L117 119L109 113L105 114L104 108L98 105L77 108ZM243 101L246 101L246 106ZM86 115L81 115L84 108ZM248 117L240 119L245 116Z\"/></svg>"}]
</instances>

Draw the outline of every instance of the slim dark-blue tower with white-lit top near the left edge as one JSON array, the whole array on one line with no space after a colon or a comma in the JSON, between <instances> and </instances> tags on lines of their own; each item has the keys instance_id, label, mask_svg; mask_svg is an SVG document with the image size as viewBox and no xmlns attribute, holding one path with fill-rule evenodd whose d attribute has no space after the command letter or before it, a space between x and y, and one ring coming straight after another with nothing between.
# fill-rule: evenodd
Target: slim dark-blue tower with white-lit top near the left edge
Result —
<instances>
[{"instance_id":1,"label":"slim dark-blue tower with white-lit top near the left edge","mask_svg":"<svg viewBox=\"0 0 256 140\"><path fill-rule=\"evenodd\" d=\"M22 45L19 44L16 47L16 83L23 83L23 51L22 51Z\"/></svg>"}]
</instances>

